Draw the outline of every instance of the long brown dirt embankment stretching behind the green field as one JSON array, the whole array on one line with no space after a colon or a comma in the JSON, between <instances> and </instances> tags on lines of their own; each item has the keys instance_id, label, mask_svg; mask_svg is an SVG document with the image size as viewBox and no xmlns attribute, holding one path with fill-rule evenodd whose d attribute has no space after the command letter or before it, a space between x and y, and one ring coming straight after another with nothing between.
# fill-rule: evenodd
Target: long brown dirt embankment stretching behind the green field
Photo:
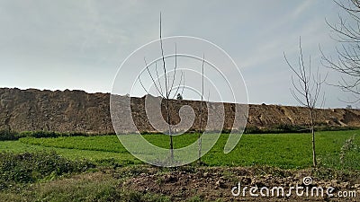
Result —
<instances>
[{"instance_id":1,"label":"long brown dirt embankment stretching behind the green field","mask_svg":"<svg viewBox=\"0 0 360 202\"><path fill-rule=\"evenodd\" d=\"M124 99L126 97L123 97ZM180 122L178 111L182 106L193 108L194 122L190 130L200 126L199 101L171 101L172 124ZM211 103L216 109L222 103ZM233 126L235 104L224 103L224 129ZM203 124L206 125L207 107ZM140 131L153 132L147 120L143 98L131 98L131 114ZM163 110L164 111L164 110ZM248 126L272 128L280 125L306 126L309 110L300 107L276 105L249 105ZM360 127L360 110L329 109L316 110L318 125L337 127ZM110 116L109 93L86 93L84 91L40 91L0 88L0 130L57 132L113 133Z\"/></svg>"}]
</instances>

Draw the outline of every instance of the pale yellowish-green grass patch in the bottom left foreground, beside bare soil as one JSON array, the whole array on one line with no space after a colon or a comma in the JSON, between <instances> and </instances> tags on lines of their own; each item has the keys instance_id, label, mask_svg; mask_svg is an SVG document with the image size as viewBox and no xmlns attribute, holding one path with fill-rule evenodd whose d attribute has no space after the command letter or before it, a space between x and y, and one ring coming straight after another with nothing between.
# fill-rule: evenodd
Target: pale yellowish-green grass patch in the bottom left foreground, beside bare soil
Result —
<instances>
[{"instance_id":1,"label":"pale yellowish-green grass patch in the bottom left foreground, beside bare soil","mask_svg":"<svg viewBox=\"0 0 360 202\"><path fill-rule=\"evenodd\" d=\"M167 197L139 193L122 189L123 178L117 179L103 172L88 172L74 175L71 179L50 180L34 183L31 186L15 185L13 189L0 191L1 201L78 201L78 202L115 202L115 201L170 201Z\"/></svg>"}]
</instances>

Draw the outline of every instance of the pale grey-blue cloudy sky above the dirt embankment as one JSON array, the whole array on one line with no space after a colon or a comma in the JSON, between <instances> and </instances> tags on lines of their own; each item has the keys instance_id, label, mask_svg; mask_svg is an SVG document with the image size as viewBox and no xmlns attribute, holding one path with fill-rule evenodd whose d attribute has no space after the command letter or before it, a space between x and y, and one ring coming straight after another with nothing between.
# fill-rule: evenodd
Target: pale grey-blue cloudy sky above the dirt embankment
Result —
<instances>
[{"instance_id":1,"label":"pale grey-blue cloudy sky above the dirt embankment","mask_svg":"<svg viewBox=\"0 0 360 202\"><path fill-rule=\"evenodd\" d=\"M328 74L323 107L344 108L352 99L330 85L341 75L320 64L319 47L333 56L339 46L326 21L336 24L338 15L346 16L329 0L2 0L0 87L112 92L125 59L158 40L160 12L164 38L192 36L229 54L246 83L249 103L299 105L290 92L293 74L284 52L296 65L300 37L305 59L311 56L311 66ZM116 79L131 82L126 76ZM184 93L184 99L198 98Z\"/></svg>"}]
</instances>

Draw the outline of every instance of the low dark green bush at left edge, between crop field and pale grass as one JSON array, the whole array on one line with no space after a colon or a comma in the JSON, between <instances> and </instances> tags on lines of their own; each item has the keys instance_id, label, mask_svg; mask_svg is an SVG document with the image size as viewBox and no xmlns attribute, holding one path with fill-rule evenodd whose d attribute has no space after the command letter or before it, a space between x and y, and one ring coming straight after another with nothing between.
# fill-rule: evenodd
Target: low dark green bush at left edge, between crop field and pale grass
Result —
<instances>
[{"instance_id":1,"label":"low dark green bush at left edge, between crop field and pale grass","mask_svg":"<svg viewBox=\"0 0 360 202\"><path fill-rule=\"evenodd\" d=\"M0 153L0 189L15 183L31 183L67 173L87 171L94 163L70 161L55 152Z\"/></svg>"}]
</instances>

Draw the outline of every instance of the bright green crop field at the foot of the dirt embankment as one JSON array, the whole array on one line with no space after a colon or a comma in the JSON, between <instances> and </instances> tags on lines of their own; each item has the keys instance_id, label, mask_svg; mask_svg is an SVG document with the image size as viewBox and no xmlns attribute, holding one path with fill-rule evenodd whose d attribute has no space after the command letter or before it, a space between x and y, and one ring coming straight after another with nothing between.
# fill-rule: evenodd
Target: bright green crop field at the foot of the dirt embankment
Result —
<instances>
[{"instance_id":1,"label":"bright green crop field at the foot of the dirt embankment","mask_svg":"<svg viewBox=\"0 0 360 202\"><path fill-rule=\"evenodd\" d=\"M340 168L341 158L345 158L347 167L360 169L359 135L360 130L318 132L316 144L320 164ZM168 145L167 136L144 136L154 145L164 147ZM355 139L352 144L344 146L353 136ZM285 169L311 167L311 135L309 134L243 135L232 152L223 154L223 146L228 137L227 134L221 135L211 151L202 157L202 161L210 166L269 165ZM175 136L175 147L189 145L196 139L197 135L194 134ZM23 153L39 150L55 150L58 154L71 159L85 158L94 162L112 160L123 165L142 163L127 152L117 136L24 137L18 141L0 142L0 151ZM344 153L343 157L341 153Z\"/></svg>"}]
</instances>

